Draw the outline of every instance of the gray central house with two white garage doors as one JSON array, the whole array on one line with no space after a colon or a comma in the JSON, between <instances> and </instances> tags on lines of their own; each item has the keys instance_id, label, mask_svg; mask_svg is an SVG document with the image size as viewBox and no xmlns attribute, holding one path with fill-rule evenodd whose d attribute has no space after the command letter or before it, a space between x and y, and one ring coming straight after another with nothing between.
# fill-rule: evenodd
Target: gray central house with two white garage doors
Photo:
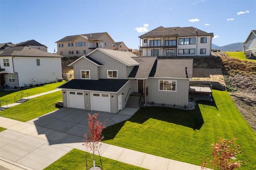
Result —
<instances>
[{"instance_id":1,"label":"gray central house with two white garage doors","mask_svg":"<svg viewBox=\"0 0 256 170\"><path fill-rule=\"evenodd\" d=\"M64 107L118 113L134 93L143 95L143 103L188 105L193 59L138 57L97 48L69 66L74 79L58 87Z\"/></svg>"}]
</instances>

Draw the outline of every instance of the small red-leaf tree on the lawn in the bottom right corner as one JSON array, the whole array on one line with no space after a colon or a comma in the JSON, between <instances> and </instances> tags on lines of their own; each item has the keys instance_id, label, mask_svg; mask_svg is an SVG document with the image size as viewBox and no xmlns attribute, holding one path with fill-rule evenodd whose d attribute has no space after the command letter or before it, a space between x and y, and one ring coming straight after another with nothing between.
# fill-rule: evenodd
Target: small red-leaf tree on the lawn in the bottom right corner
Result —
<instances>
[{"instance_id":1,"label":"small red-leaf tree on the lawn in the bottom right corner","mask_svg":"<svg viewBox=\"0 0 256 170\"><path fill-rule=\"evenodd\" d=\"M210 160L210 166L215 170L234 170L241 166L242 161L232 161L236 159L235 156L242 154L240 151L240 146L235 144L235 140L227 140L224 138L219 138L218 142L212 144L212 160ZM205 170L205 166L209 165L206 161L203 162L201 169Z\"/></svg>"}]
</instances>

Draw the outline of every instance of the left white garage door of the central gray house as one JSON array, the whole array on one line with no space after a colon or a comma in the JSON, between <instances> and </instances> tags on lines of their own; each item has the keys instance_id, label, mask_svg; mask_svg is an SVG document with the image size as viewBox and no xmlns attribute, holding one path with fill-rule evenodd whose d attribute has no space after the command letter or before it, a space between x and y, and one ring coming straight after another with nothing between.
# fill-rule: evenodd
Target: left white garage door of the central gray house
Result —
<instances>
[{"instance_id":1,"label":"left white garage door of the central gray house","mask_svg":"<svg viewBox=\"0 0 256 170\"><path fill-rule=\"evenodd\" d=\"M68 107L84 109L84 93L80 91L67 91Z\"/></svg>"}]
</instances>

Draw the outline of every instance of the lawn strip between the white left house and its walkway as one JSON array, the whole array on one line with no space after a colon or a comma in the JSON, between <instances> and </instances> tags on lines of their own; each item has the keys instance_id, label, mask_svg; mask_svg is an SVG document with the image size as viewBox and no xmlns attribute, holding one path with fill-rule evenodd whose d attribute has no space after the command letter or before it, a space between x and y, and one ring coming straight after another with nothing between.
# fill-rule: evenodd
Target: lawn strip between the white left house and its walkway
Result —
<instances>
[{"instance_id":1,"label":"lawn strip between the white left house and its walkway","mask_svg":"<svg viewBox=\"0 0 256 170\"><path fill-rule=\"evenodd\" d=\"M47 91L55 90L56 87L62 85L63 83L64 83L64 81L58 82L58 83L50 83L50 84L46 84L46 85L42 85L42 86L38 86L38 87L32 87L29 89L19 89L16 91L6 91L6 90L1 89L0 90L0 100L4 100L4 101L9 100L10 102L7 104L14 103L14 97L21 92L23 92L24 94L30 93L28 96L37 95L39 93L44 93ZM21 94L16 97L16 101L18 99L20 99L20 97L21 97ZM23 98L26 98L26 97L27 97L26 95L23 96ZM5 105L5 104L3 104L3 105Z\"/></svg>"}]
</instances>

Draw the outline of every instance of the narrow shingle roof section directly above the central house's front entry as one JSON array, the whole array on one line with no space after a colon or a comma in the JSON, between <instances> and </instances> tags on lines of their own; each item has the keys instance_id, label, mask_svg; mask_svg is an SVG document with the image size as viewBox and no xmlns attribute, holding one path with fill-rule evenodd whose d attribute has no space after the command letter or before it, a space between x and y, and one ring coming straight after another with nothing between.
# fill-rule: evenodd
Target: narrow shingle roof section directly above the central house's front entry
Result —
<instances>
[{"instance_id":1,"label":"narrow shingle roof section directly above the central house's front entry","mask_svg":"<svg viewBox=\"0 0 256 170\"><path fill-rule=\"evenodd\" d=\"M140 79L147 79L150 75L152 67L156 62L156 57L132 57L135 61L140 63L140 65L135 66L128 78L140 78Z\"/></svg>"}]
</instances>

